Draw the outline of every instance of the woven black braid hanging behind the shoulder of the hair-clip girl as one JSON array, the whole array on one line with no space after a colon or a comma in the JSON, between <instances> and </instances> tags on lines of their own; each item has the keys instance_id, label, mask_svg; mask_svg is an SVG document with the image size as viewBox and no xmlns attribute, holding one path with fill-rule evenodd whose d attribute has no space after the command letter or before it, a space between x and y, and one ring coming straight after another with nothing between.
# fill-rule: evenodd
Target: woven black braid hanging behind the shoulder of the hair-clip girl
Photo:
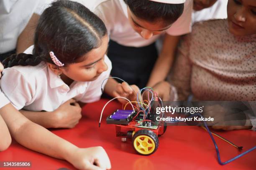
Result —
<instances>
[{"instance_id":1,"label":"woven black braid hanging behind the shoulder of the hair-clip girl","mask_svg":"<svg viewBox=\"0 0 256 170\"><path fill-rule=\"evenodd\" d=\"M39 56L35 56L33 54L20 53L20 54L13 54L10 57L7 57L5 60L3 60L3 66L5 68L13 67L15 65L36 66L41 61L42 61L42 58Z\"/></svg>"}]
</instances>

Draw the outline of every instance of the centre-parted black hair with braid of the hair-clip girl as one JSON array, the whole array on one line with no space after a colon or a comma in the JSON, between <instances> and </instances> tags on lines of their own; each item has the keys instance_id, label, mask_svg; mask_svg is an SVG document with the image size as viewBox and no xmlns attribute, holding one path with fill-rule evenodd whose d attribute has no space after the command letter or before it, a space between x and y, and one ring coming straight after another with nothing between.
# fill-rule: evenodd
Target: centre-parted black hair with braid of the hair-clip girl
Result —
<instances>
[{"instance_id":1,"label":"centre-parted black hair with braid of the hair-clip girl","mask_svg":"<svg viewBox=\"0 0 256 170\"><path fill-rule=\"evenodd\" d=\"M81 57L101 45L107 34L102 20L84 5L70 0L54 1L41 14L34 35L33 55L15 54L3 61L4 67L54 64L49 52L65 66L80 62ZM85 58L82 58L85 60Z\"/></svg>"}]
</instances>

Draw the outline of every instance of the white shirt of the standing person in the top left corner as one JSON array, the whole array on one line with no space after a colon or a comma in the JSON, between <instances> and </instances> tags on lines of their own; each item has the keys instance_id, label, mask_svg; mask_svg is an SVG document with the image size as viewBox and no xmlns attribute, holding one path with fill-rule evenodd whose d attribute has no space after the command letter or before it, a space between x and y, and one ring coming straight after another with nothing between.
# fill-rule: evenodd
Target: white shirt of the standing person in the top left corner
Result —
<instances>
[{"instance_id":1,"label":"white shirt of the standing person in the top left corner","mask_svg":"<svg viewBox=\"0 0 256 170\"><path fill-rule=\"evenodd\" d=\"M14 50L33 13L41 15L50 0L0 0L0 53Z\"/></svg>"}]
</instances>

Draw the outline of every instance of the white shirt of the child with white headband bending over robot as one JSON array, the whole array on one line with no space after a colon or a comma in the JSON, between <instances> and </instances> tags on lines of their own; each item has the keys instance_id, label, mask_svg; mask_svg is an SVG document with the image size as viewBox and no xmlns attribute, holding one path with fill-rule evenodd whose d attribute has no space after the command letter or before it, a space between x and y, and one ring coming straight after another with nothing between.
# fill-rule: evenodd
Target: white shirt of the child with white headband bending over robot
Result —
<instances>
[{"instance_id":1,"label":"white shirt of the child with white headband bending over robot","mask_svg":"<svg viewBox=\"0 0 256 170\"><path fill-rule=\"evenodd\" d=\"M127 5L123 0L74 0L82 3L102 19L108 29L111 40L120 45L143 47L155 42L160 35L145 40L139 35L128 20ZM183 35L191 31L192 0L184 3L184 12L173 25L166 30L169 35Z\"/></svg>"}]
</instances>

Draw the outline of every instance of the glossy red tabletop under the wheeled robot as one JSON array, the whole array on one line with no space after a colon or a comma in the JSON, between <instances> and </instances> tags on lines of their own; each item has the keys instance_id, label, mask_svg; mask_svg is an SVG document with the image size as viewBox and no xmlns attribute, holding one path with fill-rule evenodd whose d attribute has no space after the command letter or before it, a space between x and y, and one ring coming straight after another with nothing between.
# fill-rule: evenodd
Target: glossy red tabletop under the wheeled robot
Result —
<instances>
[{"instance_id":1,"label":"glossy red tabletop under the wheeled robot","mask_svg":"<svg viewBox=\"0 0 256 170\"><path fill-rule=\"evenodd\" d=\"M169 126L166 133L159 137L159 148L154 154L149 156L138 155L132 148L131 140L128 139L125 143L121 142L120 138L115 137L115 125L106 124L106 117L116 109L121 109L117 102L110 102L106 107L101 127L98 127L102 107L107 101L102 99L87 104L82 110L83 117L75 128L51 131L80 148L102 146L110 157L113 170L256 170L256 150L227 165L219 165L209 134L202 128L194 126ZM251 130L216 133L238 146L243 146L243 150L248 150L256 145L256 133ZM223 162L241 153L223 140L218 138L215 138L215 140ZM16 168L18 170L75 169L64 160L31 151L15 141L8 150L0 153L0 161L31 162L31 168Z\"/></svg>"}]
</instances>

